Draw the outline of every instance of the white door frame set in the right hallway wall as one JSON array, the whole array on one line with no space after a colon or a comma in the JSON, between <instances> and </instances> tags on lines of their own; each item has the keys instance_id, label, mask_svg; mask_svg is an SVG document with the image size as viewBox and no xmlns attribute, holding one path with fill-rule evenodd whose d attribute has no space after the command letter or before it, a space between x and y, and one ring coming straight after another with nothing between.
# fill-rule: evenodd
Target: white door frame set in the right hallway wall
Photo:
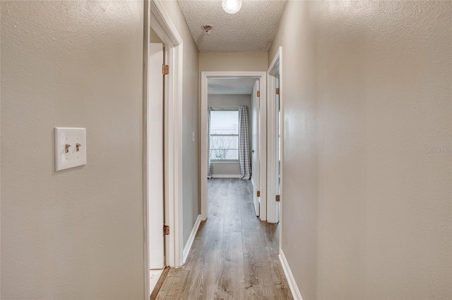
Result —
<instances>
[{"instance_id":1,"label":"white door frame set in the right hallway wall","mask_svg":"<svg viewBox=\"0 0 452 300\"><path fill-rule=\"evenodd\" d=\"M280 208L281 202L279 203L275 199L278 191L276 186L278 185L278 159L276 154L278 153L278 107L276 103L276 92L275 89L278 85L279 75L279 88L280 88L280 112L281 118L283 118L283 80L282 80L282 61L283 61L283 47L279 47L278 51L273 58L270 67L268 68L268 131L267 131L267 151L268 151L268 165L267 165L267 175L268 175L268 201L267 201L267 222L268 223L278 223L280 221ZM283 147L284 147L284 135L283 135L283 122L281 122L281 161L283 161ZM283 165L280 165L280 185L283 185ZM280 190L280 201L283 199L283 189Z\"/></svg>"}]
</instances>

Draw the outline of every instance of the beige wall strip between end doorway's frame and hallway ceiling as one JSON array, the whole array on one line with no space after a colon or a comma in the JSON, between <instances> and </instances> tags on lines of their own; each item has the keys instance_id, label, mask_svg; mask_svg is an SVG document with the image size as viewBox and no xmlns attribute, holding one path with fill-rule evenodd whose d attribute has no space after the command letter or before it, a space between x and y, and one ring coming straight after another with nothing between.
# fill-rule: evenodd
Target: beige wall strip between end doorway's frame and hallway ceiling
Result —
<instances>
[{"instance_id":1,"label":"beige wall strip between end doorway's frame and hallway ceiling","mask_svg":"<svg viewBox=\"0 0 452 300\"><path fill-rule=\"evenodd\" d=\"M200 52L199 72L263 71L268 68L267 52ZM200 74L201 76L201 74Z\"/></svg>"}]
</instances>

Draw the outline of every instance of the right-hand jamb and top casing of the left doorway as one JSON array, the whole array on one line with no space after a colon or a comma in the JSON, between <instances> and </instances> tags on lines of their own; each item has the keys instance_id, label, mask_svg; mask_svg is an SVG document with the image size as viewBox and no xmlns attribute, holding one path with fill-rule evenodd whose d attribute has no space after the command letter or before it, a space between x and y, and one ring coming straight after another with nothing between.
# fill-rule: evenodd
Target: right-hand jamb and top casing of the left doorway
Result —
<instances>
[{"instance_id":1,"label":"right-hand jamb and top casing of the left doorway","mask_svg":"<svg viewBox=\"0 0 452 300\"><path fill-rule=\"evenodd\" d=\"M165 44L165 265L183 264L182 241L182 65L183 41L160 0L150 1L150 25Z\"/></svg>"}]
</instances>

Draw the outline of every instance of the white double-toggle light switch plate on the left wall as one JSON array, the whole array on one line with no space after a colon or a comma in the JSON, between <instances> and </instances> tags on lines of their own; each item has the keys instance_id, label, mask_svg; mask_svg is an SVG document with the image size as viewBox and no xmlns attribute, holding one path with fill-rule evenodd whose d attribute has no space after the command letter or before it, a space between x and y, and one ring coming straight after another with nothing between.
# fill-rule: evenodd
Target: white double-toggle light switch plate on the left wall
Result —
<instances>
[{"instance_id":1,"label":"white double-toggle light switch plate on the left wall","mask_svg":"<svg viewBox=\"0 0 452 300\"><path fill-rule=\"evenodd\" d=\"M66 144L68 151L66 151ZM78 151L77 151L77 144ZM55 170L86 165L86 129L55 127Z\"/></svg>"}]
</instances>

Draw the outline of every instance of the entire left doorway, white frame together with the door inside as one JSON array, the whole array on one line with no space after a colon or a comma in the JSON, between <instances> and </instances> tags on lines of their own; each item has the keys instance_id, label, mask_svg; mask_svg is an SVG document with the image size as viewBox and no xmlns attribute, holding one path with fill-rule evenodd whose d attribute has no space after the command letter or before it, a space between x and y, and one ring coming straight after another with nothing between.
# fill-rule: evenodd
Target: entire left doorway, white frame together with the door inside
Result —
<instances>
[{"instance_id":1,"label":"entire left doorway, white frame together with the door inside","mask_svg":"<svg viewBox=\"0 0 452 300\"><path fill-rule=\"evenodd\" d=\"M183 264L180 121L183 44L160 1L145 1L143 5L143 269L149 283L145 285L145 294L150 296L151 269ZM166 226L170 230L165 233Z\"/></svg>"}]
</instances>

